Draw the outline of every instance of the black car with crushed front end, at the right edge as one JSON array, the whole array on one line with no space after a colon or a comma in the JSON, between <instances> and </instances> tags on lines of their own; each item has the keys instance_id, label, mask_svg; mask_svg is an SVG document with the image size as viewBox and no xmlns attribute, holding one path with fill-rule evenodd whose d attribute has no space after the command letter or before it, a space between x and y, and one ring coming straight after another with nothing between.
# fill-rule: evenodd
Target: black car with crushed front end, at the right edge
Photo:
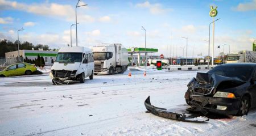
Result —
<instances>
[{"instance_id":1,"label":"black car with crushed front end, at the right edge","mask_svg":"<svg viewBox=\"0 0 256 136\"><path fill-rule=\"evenodd\" d=\"M218 114L243 116L256 106L256 64L229 63L197 73L188 83L185 101Z\"/></svg>"}]
</instances>

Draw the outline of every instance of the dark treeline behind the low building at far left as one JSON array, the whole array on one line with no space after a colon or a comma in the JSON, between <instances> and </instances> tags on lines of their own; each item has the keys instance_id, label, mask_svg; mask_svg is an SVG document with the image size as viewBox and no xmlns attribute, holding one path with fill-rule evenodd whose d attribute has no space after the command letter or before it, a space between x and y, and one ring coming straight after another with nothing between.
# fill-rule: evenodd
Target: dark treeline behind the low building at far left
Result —
<instances>
[{"instance_id":1,"label":"dark treeline behind the low building at far left","mask_svg":"<svg viewBox=\"0 0 256 136\"><path fill-rule=\"evenodd\" d=\"M43 45L43 44L33 45L31 42L28 42L28 41L20 42L19 44L20 50L23 50L23 49L32 50L32 48L34 48L35 50L38 50L39 48L40 49L42 48L43 50L49 50L48 45ZM5 57L6 52L13 52L16 50L18 50L18 40L16 40L15 42L12 42L6 39L0 40L0 57Z\"/></svg>"}]
</instances>

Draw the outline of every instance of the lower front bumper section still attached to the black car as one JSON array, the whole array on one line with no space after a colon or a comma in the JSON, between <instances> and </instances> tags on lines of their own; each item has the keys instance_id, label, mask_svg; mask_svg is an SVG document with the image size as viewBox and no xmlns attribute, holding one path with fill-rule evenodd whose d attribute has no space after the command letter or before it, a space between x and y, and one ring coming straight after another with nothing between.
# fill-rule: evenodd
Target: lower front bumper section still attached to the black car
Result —
<instances>
[{"instance_id":1,"label":"lower front bumper section still attached to the black car","mask_svg":"<svg viewBox=\"0 0 256 136\"><path fill-rule=\"evenodd\" d=\"M203 104L203 108L209 112L218 114L237 114L241 98L221 98L208 96L193 96L192 100L198 104ZM222 107L224 109L220 109Z\"/></svg>"}]
</instances>

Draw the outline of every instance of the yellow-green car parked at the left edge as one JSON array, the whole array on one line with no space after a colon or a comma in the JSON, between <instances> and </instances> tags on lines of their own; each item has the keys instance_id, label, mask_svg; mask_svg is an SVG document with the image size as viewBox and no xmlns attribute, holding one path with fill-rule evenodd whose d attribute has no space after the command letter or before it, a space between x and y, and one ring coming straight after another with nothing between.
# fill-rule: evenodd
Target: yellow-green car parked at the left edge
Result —
<instances>
[{"instance_id":1,"label":"yellow-green car parked at the left edge","mask_svg":"<svg viewBox=\"0 0 256 136\"><path fill-rule=\"evenodd\" d=\"M36 66L30 63L15 63L0 71L0 77L30 75L36 71Z\"/></svg>"}]
</instances>

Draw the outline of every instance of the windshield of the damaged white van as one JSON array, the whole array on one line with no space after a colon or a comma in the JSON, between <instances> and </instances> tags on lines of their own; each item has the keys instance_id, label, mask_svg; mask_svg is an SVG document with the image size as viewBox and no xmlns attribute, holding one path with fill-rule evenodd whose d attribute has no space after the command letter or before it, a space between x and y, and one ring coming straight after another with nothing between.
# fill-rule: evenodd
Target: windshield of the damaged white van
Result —
<instances>
[{"instance_id":1,"label":"windshield of the damaged white van","mask_svg":"<svg viewBox=\"0 0 256 136\"><path fill-rule=\"evenodd\" d=\"M82 62L82 53L58 53L55 62Z\"/></svg>"}]
</instances>

